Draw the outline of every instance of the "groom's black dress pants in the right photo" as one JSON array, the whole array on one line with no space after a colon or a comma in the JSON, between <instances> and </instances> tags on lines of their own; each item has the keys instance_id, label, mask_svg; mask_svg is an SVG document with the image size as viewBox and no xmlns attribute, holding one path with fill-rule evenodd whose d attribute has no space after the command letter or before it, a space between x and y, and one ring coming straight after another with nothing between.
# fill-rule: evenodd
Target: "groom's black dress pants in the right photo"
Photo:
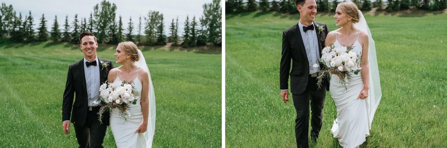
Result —
<instances>
[{"instance_id":1,"label":"groom's black dress pants in the right photo","mask_svg":"<svg viewBox=\"0 0 447 148\"><path fill-rule=\"evenodd\" d=\"M323 107L326 98L326 88L318 89L316 77L309 75L308 86L302 94L292 94L296 110L295 137L297 148L309 147L309 103L312 110L311 137L316 140L323 123Z\"/></svg>"}]
</instances>

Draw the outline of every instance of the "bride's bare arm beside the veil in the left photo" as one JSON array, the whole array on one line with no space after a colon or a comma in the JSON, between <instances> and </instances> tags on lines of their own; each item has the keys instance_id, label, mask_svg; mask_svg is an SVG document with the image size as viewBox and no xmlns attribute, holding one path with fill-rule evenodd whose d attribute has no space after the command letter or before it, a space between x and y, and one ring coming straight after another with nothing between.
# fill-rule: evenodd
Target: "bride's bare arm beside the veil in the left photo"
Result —
<instances>
[{"instance_id":1,"label":"bride's bare arm beside the veil in the left photo","mask_svg":"<svg viewBox=\"0 0 447 148\"><path fill-rule=\"evenodd\" d=\"M146 71L140 71L139 77L141 77L141 111L143 114L143 123L139 126L136 132L145 132L148 128L149 118L149 75Z\"/></svg>"}]
</instances>

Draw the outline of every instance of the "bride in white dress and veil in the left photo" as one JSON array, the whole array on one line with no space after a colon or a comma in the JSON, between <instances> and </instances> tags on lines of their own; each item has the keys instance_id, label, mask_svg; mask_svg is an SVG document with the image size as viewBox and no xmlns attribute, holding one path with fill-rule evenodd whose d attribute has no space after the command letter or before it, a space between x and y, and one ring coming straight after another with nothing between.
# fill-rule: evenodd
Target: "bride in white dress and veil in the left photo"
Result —
<instances>
[{"instance_id":1,"label":"bride in white dress and veil in the left photo","mask_svg":"<svg viewBox=\"0 0 447 148\"><path fill-rule=\"evenodd\" d=\"M141 51L133 42L120 42L116 48L116 63L111 69L109 81L132 82L136 89L137 103L130 103L130 110L120 115L117 108L110 110L110 129L118 148L151 148L155 131L155 95L151 75ZM135 63L134 63L135 62Z\"/></svg>"}]
</instances>

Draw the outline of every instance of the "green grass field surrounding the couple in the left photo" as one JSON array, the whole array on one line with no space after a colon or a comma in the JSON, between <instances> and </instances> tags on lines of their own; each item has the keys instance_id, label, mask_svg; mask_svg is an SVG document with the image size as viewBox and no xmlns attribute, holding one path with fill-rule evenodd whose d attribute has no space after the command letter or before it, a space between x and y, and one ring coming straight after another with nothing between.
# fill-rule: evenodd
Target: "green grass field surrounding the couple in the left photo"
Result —
<instances>
[{"instance_id":1,"label":"green grass field surrounding the couple in the left photo","mask_svg":"<svg viewBox=\"0 0 447 148\"><path fill-rule=\"evenodd\" d=\"M115 48L100 45L97 55L114 62ZM140 49L156 95L153 147L221 147L220 49ZM73 125L62 131L61 108L68 65L82 58L71 44L0 44L1 148L77 147ZM104 147L116 148L110 127Z\"/></svg>"}]
</instances>

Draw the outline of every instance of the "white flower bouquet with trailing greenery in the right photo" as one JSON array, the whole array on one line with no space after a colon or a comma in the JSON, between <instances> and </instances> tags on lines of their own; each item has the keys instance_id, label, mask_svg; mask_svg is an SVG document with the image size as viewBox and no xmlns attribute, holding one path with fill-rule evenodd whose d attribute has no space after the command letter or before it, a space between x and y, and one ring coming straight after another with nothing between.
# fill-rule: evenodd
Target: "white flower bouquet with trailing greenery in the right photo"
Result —
<instances>
[{"instance_id":1,"label":"white flower bouquet with trailing greenery in the right photo","mask_svg":"<svg viewBox=\"0 0 447 148\"><path fill-rule=\"evenodd\" d=\"M350 72L354 72L357 75L360 69L362 69L360 67L360 58L358 58L360 55L351 51L352 48L352 45L335 47L332 43L323 48L320 62L324 64L324 67L318 73L318 87L320 87L323 77L330 72L337 74L340 78L340 83L346 89L346 79L350 80L352 78ZM318 64L314 64L313 66L318 67Z\"/></svg>"}]
</instances>

